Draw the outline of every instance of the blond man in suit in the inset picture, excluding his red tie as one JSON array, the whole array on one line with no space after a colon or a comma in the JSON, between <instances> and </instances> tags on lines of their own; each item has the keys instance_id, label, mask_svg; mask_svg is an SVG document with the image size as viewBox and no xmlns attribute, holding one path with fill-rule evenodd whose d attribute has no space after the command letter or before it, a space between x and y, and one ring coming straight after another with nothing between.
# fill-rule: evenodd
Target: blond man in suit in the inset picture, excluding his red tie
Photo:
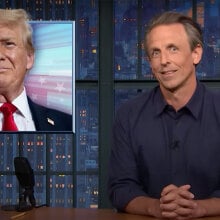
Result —
<instances>
[{"instance_id":1,"label":"blond man in suit in the inset picture, excluding his red tie","mask_svg":"<svg viewBox=\"0 0 220 220\"><path fill-rule=\"evenodd\" d=\"M18 131L71 131L71 115L39 106L26 95L24 78L34 64L29 19L23 9L0 9L0 106L16 106ZM3 121L0 112L0 130Z\"/></svg>"}]
</instances>

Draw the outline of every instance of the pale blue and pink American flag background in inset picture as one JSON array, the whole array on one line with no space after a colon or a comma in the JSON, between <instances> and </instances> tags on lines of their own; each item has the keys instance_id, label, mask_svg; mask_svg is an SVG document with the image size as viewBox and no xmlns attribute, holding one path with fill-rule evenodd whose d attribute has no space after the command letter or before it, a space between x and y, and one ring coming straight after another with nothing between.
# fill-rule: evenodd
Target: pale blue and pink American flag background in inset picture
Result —
<instances>
[{"instance_id":1,"label":"pale blue and pink American flag background in inset picture","mask_svg":"<svg viewBox=\"0 0 220 220\"><path fill-rule=\"evenodd\" d=\"M25 79L27 94L40 105L73 114L74 24L35 21L31 25L35 62Z\"/></svg>"}]
</instances>

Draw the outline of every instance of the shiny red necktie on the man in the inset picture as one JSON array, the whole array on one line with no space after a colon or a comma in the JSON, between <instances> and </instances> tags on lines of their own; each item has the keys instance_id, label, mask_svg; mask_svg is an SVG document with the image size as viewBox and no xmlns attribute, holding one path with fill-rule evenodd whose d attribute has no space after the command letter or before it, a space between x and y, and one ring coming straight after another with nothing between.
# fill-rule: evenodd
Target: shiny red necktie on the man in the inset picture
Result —
<instances>
[{"instance_id":1,"label":"shiny red necktie on the man in the inset picture","mask_svg":"<svg viewBox=\"0 0 220 220\"><path fill-rule=\"evenodd\" d=\"M5 102L0 107L0 111L3 113L4 116L2 131L18 131L13 117L13 113L16 111L16 109L17 108L10 102Z\"/></svg>"}]
</instances>

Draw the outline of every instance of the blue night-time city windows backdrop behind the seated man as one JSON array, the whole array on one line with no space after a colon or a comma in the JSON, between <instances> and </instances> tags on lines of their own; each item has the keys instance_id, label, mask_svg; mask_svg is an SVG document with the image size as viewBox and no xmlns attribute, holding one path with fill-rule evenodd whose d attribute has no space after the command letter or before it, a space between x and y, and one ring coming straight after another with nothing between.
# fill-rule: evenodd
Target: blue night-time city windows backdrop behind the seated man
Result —
<instances>
[{"instance_id":1,"label":"blue night-time city windows backdrop behind the seated man","mask_svg":"<svg viewBox=\"0 0 220 220\"><path fill-rule=\"evenodd\" d=\"M45 1L0 3L1 8L23 7L34 20L73 20L75 17L76 80L80 81L76 81L76 140L72 134L0 135L1 204L18 202L19 188L13 158L23 155L28 157L35 170L38 204L48 201L51 206L98 207L100 166L107 159L99 158L100 149L104 147L99 146L102 129L99 128L99 102L109 102L108 97L99 100L99 85L103 82L99 76L98 2L62 1L58 4L54 1L51 7ZM114 62L112 66L105 67L113 69L110 82L115 88L113 109L116 111L120 104L146 91L149 84L155 84L143 48L144 29L154 14L166 10L183 12L200 23L204 31L205 51L197 75L199 79L214 82L219 87L219 8L220 2L211 0L114 0L114 40L109 42L109 46L114 48ZM127 86L127 81L132 85ZM145 87L143 83L146 81ZM141 88L139 82L142 83Z\"/></svg>"}]
</instances>

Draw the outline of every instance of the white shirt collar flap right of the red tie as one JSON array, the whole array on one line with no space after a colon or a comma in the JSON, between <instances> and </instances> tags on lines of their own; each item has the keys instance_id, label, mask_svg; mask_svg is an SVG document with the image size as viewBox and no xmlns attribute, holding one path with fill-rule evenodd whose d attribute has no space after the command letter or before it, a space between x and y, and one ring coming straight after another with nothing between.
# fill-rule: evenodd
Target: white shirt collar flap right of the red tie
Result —
<instances>
[{"instance_id":1,"label":"white shirt collar flap right of the red tie","mask_svg":"<svg viewBox=\"0 0 220 220\"><path fill-rule=\"evenodd\" d=\"M32 120L31 110L28 105L26 89L22 91L22 93L12 101L12 104L17 107L19 113L22 114L26 119Z\"/></svg>"}]
</instances>

